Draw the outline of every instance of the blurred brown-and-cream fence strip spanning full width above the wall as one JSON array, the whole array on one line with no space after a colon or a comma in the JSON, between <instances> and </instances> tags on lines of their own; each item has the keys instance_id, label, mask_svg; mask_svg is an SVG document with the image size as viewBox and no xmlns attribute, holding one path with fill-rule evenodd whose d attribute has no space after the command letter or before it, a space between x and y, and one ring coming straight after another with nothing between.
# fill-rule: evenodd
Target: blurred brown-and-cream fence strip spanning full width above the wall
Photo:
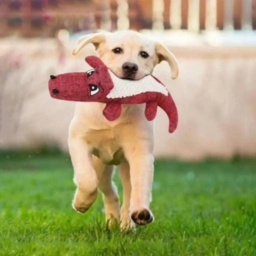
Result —
<instances>
[{"instance_id":1,"label":"blurred brown-and-cream fence strip spanning full width above the wall","mask_svg":"<svg viewBox=\"0 0 256 256\"><path fill-rule=\"evenodd\" d=\"M256 0L1 0L0 35L95 29L256 29Z\"/></svg>"}]
</instances>

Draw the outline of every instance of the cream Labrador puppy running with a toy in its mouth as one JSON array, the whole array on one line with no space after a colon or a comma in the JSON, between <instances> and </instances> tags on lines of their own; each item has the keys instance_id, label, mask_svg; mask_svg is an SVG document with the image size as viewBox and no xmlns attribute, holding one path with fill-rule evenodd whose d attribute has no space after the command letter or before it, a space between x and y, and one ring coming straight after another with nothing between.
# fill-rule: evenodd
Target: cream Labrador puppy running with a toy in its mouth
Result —
<instances>
[{"instance_id":1,"label":"cream Labrador puppy running with a toy in its mouth","mask_svg":"<svg viewBox=\"0 0 256 256\"><path fill-rule=\"evenodd\" d=\"M135 31L102 32L82 36L76 55L93 44L104 64L123 79L141 79L165 60L178 77L178 62L159 42ZM73 208L86 212L103 194L106 220L120 220L120 204L112 182L113 165L119 166L123 186L121 229L154 220L150 210L153 182L153 123L144 115L145 105L124 105L120 118L110 122L102 115L103 103L77 103L69 127L69 153L77 185Z\"/></svg>"}]
</instances>

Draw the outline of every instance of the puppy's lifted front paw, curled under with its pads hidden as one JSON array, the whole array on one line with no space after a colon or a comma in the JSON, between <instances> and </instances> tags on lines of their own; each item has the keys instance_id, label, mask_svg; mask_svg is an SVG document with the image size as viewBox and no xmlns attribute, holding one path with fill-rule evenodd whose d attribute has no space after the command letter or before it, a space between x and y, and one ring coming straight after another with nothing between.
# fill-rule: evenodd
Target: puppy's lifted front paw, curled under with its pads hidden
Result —
<instances>
[{"instance_id":1,"label":"puppy's lifted front paw, curled under with its pads hidden","mask_svg":"<svg viewBox=\"0 0 256 256\"><path fill-rule=\"evenodd\" d=\"M96 189L92 193L86 193L77 188L72 207L74 210L85 213L96 200L98 194L98 190Z\"/></svg>"}]
</instances>

